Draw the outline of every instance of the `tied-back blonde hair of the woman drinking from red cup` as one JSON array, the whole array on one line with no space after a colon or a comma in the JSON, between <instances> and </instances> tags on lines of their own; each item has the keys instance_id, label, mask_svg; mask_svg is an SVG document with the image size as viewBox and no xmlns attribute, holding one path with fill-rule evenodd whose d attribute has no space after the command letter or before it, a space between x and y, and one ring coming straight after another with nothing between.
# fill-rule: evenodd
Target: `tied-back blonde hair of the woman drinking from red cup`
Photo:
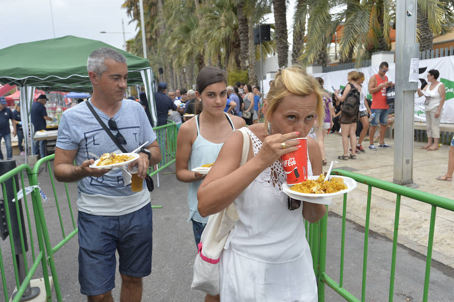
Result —
<instances>
[{"instance_id":1,"label":"tied-back blonde hair of the woman drinking from red cup","mask_svg":"<svg viewBox=\"0 0 454 302\"><path fill-rule=\"evenodd\" d=\"M317 124L319 127L322 127L325 114L323 93L318 81L313 76L306 74L306 71L301 66L293 65L280 70L273 80L273 85L271 85L266 98L265 128L267 127L267 122L271 114L273 114L277 106L282 102L283 97L290 94L299 96L315 94L317 98L315 109Z\"/></svg>"}]
</instances>

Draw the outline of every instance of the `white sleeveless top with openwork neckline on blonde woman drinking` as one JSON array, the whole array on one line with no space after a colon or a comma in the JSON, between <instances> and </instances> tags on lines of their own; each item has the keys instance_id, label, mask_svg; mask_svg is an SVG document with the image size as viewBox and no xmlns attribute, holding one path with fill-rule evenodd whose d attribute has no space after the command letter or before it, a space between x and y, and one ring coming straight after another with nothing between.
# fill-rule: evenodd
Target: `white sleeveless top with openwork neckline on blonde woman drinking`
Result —
<instances>
[{"instance_id":1,"label":"white sleeveless top with openwork neckline on blonde woman drinking","mask_svg":"<svg viewBox=\"0 0 454 302\"><path fill-rule=\"evenodd\" d=\"M247 129L254 155L262 142ZM312 166L308 159L308 175ZM303 203L289 210L287 195L281 191L285 172L279 161L262 171L235 200L240 220L230 232L225 249L265 263L286 263L298 259L309 245L302 215ZM241 179L239 179L241 180Z\"/></svg>"}]
</instances>

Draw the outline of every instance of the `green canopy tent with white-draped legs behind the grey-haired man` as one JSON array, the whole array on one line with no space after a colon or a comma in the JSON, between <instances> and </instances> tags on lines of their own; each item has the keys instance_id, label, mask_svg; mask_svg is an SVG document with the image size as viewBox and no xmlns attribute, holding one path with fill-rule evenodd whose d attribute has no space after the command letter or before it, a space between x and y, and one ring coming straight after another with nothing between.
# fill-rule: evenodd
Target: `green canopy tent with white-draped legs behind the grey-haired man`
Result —
<instances>
[{"instance_id":1,"label":"green canopy tent with white-draped legs behind the grey-haired man","mask_svg":"<svg viewBox=\"0 0 454 302\"><path fill-rule=\"evenodd\" d=\"M123 53L128 64L128 85L145 86L151 117L153 121L157 120L153 99L153 91L156 89L147 59L101 41L65 36L0 49L0 83L20 86L23 125L28 125L34 88L46 91L91 92L87 58L93 50L100 47L110 47ZM23 129L24 137L27 138L29 129ZM27 139L25 147L27 152Z\"/></svg>"}]
</instances>

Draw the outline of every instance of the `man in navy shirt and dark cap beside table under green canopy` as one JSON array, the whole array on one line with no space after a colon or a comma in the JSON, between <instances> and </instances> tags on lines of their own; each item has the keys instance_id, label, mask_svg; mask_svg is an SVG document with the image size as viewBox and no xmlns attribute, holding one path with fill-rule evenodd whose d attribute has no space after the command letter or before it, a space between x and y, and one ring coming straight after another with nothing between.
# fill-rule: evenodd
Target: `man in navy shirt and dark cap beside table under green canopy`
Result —
<instances>
[{"instance_id":1,"label":"man in navy shirt and dark cap beside table under green canopy","mask_svg":"<svg viewBox=\"0 0 454 302\"><path fill-rule=\"evenodd\" d=\"M51 122L55 122L56 118L50 118L47 116L45 104L47 103L48 99L45 94L41 94L38 96L36 102L33 103L31 111L30 111L30 119L35 128L35 133L40 130L46 130L46 120L50 120ZM39 154L40 158L46 156L46 143L47 141L36 141L33 145L33 154Z\"/></svg>"}]
</instances>

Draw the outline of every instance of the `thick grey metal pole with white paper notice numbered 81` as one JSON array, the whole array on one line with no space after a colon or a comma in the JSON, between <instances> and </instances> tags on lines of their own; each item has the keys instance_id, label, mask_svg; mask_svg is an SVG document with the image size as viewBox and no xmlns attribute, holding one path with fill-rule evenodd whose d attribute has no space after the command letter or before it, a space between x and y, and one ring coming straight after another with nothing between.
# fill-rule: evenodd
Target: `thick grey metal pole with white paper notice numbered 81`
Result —
<instances>
[{"instance_id":1,"label":"thick grey metal pole with white paper notice numbered 81","mask_svg":"<svg viewBox=\"0 0 454 302\"><path fill-rule=\"evenodd\" d=\"M419 59L416 43L417 0L396 2L394 177L399 185L413 184L414 108L417 82L410 82L412 58ZM418 71L416 71L418 72Z\"/></svg>"}]
</instances>

